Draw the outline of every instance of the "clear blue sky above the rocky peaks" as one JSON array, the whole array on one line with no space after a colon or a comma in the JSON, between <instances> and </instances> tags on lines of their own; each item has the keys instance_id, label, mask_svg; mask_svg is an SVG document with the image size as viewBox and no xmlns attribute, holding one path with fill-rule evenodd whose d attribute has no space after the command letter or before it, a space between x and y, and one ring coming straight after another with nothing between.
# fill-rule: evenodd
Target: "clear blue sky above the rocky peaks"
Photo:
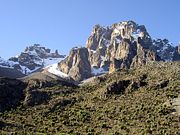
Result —
<instances>
[{"instance_id":1,"label":"clear blue sky above the rocky peaks","mask_svg":"<svg viewBox=\"0 0 180 135\"><path fill-rule=\"evenodd\" d=\"M39 43L68 54L95 24L144 24L154 38L180 41L180 0L0 0L0 56Z\"/></svg>"}]
</instances>

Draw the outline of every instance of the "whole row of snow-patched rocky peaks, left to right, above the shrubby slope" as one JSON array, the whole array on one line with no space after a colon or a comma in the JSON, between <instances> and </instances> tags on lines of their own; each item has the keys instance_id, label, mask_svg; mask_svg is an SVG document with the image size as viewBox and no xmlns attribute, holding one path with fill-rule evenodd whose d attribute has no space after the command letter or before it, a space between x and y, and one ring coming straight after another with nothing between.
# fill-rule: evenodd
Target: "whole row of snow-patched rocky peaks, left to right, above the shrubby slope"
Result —
<instances>
[{"instance_id":1,"label":"whole row of snow-patched rocky peaks, left to right, above the shrubby slope","mask_svg":"<svg viewBox=\"0 0 180 135\"><path fill-rule=\"evenodd\" d=\"M86 47L72 48L66 58L57 50L51 52L40 44L34 44L8 61L0 59L0 66L26 75L43 68L42 72L82 81L117 69L178 60L180 45L175 47L167 39L152 38L144 25L122 21L107 27L95 25Z\"/></svg>"}]
</instances>

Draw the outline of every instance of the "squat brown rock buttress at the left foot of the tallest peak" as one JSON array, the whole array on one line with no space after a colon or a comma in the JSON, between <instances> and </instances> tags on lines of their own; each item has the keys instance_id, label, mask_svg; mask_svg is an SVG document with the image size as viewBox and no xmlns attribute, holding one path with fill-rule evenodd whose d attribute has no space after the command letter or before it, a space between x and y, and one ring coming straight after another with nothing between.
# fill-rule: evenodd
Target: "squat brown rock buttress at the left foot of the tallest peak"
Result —
<instances>
[{"instance_id":1,"label":"squat brown rock buttress at the left foot of the tallest peak","mask_svg":"<svg viewBox=\"0 0 180 135\"><path fill-rule=\"evenodd\" d=\"M59 69L76 81L91 76L91 66L88 60L87 48L73 48L67 58L58 64Z\"/></svg>"}]
</instances>

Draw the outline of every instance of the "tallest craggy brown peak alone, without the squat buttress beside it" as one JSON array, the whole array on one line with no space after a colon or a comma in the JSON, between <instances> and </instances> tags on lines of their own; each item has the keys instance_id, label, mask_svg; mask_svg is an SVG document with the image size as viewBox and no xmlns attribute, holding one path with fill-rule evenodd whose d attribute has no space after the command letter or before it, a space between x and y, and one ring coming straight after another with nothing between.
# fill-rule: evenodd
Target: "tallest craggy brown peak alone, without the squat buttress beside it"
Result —
<instances>
[{"instance_id":1,"label":"tallest craggy brown peak alone, without the squat buttress beside it","mask_svg":"<svg viewBox=\"0 0 180 135\"><path fill-rule=\"evenodd\" d=\"M152 39L145 26L133 21L106 28L95 26L86 46L92 67L104 68L109 72L158 60L151 49Z\"/></svg>"}]
</instances>

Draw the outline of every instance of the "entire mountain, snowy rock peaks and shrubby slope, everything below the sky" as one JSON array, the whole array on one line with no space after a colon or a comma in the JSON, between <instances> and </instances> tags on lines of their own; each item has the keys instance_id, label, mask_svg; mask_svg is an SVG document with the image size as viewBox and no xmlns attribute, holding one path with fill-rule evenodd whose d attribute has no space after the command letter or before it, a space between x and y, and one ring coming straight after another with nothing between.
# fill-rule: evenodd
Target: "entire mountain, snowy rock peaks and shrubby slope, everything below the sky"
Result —
<instances>
[{"instance_id":1,"label":"entire mountain, snowy rock peaks and shrubby slope, everything below the sky","mask_svg":"<svg viewBox=\"0 0 180 135\"><path fill-rule=\"evenodd\" d=\"M179 135L179 60L133 21L96 25L67 57L29 46L0 58L0 134Z\"/></svg>"}]
</instances>

